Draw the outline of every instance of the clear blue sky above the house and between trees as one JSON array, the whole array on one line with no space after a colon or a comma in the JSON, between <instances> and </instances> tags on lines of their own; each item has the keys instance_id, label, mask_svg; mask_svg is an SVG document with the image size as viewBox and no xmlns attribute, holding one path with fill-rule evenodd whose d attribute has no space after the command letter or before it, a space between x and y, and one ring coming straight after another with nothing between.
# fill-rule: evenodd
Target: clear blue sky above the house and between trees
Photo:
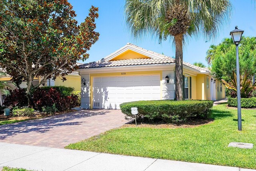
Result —
<instances>
[{"instance_id":1,"label":"clear blue sky above the house and between trees","mask_svg":"<svg viewBox=\"0 0 256 171\"><path fill-rule=\"evenodd\" d=\"M84 63L97 61L124 46L127 42L136 44L147 50L152 50L167 56L175 56L175 48L170 41L158 44L154 38L134 40L130 34L124 19L125 0L68 0L76 11L78 22L83 22L88 15L89 8L93 5L99 7L99 18L96 20L96 31L100 38L88 52L90 58ZM206 40L203 37L190 38L184 48L185 62L203 62L211 44L219 44L225 37L229 37L231 30L237 25L244 30L244 36L256 36L256 5L254 0L231 0L233 12L227 26L219 31L214 40Z\"/></svg>"}]
</instances>

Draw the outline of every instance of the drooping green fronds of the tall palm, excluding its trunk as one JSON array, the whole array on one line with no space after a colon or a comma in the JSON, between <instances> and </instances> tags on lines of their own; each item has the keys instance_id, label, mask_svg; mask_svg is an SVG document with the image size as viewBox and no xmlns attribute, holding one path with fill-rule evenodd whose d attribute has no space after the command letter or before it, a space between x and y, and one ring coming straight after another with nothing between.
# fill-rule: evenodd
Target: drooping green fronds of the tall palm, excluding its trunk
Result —
<instances>
[{"instance_id":1,"label":"drooping green fronds of the tall palm, excluding its trunk","mask_svg":"<svg viewBox=\"0 0 256 171\"><path fill-rule=\"evenodd\" d=\"M229 0L126 0L126 24L136 39L154 35L159 42L172 33L168 28L175 20L166 23L166 12L179 2L188 8L191 24L184 38L204 35L208 40L214 38L230 18L232 5Z\"/></svg>"}]
</instances>

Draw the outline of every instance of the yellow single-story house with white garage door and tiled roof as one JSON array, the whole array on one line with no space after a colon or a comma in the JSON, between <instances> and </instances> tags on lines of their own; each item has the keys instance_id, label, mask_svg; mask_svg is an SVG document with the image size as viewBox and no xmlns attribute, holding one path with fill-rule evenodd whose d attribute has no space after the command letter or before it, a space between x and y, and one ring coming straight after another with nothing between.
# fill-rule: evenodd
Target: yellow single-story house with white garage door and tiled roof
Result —
<instances>
[{"instance_id":1,"label":"yellow single-story house with white garage door and tiled roof","mask_svg":"<svg viewBox=\"0 0 256 171\"><path fill-rule=\"evenodd\" d=\"M120 109L120 104L138 100L174 99L175 59L126 44L97 62L82 64L81 108ZM184 98L218 100L225 86L208 68L183 62Z\"/></svg>"}]
</instances>

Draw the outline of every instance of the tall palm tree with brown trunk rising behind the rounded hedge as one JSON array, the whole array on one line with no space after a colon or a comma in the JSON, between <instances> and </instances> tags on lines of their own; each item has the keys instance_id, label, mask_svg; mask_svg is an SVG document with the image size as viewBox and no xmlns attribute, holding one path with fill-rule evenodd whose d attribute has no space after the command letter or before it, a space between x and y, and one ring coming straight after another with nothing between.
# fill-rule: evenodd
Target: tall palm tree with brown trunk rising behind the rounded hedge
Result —
<instances>
[{"instance_id":1,"label":"tall palm tree with brown trunk rising behind the rounded hedge","mask_svg":"<svg viewBox=\"0 0 256 171\"><path fill-rule=\"evenodd\" d=\"M175 98L183 99L183 43L200 32L214 37L231 11L229 0L126 0L126 23L135 38L172 38L176 48Z\"/></svg>"}]
</instances>

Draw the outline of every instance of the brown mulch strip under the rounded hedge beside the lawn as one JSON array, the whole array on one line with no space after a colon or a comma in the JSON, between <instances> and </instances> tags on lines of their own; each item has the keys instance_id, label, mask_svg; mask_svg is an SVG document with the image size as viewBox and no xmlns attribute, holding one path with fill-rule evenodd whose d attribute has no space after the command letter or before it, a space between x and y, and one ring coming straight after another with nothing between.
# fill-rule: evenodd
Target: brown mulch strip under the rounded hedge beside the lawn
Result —
<instances>
[{"instance_id":1,"label":"brown mulch strip under the rounded hedge beside the lawn","mask_svg":"<svg viewBox=\"0 0 256 171\"><path fill-rule=\"evenodd\" d=\"M141 122L137 121L137 127L150 127L150 128L191 128L198 127L200 125L206 125L212 123L213 119L190 119L188 121L180 123L163 123L161 121L150 123L150 122ZM136 127L135 121L127 123L122 127Z\"/></svg>"}]
</instances>

